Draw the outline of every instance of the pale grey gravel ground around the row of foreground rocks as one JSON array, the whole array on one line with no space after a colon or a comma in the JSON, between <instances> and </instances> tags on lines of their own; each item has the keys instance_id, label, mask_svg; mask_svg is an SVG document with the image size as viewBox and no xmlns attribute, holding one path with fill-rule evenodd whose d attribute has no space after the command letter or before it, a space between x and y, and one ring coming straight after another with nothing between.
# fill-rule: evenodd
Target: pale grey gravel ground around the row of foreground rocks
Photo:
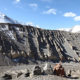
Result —
<instances>
[{"instance_id":1,"label":"pale grey gravel ground around the row of foreground rocks","mask_svg":"<svg viewBox=\"0 0 80 80\"><path fill-rule=\"evenodd\" d=\"M51 64L51 66L54 67L56 63L49 63L49 64ZM9 70L15 71L15 70L24 70L24 69L29 69L30 71L32 71L35 65L30 64L30 65L17 65L17 66L0 66L0 80L4 80L1 77L6 71ZM80 70L79 63L62 63L62 65L65 68L65 71ZM44 64L39 64L39 66L43 67ZM40 75L40 76L31 76L31 77L25 77L24 75L21 75L19 78L12 79L12 80L80 80L80 79L70 79L70 78L64 78L55 75Z\"/></svg>"}]
</instances>

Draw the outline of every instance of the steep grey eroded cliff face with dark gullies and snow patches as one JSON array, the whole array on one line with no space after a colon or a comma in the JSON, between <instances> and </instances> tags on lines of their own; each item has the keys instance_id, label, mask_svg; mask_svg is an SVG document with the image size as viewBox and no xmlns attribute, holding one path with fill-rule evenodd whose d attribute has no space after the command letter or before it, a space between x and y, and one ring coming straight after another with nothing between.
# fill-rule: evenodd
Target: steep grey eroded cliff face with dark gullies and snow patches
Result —
<instances>
[{"instance_id":1,"label":"steep grey eroded cliff face with dark gullies and snow patches","mask_svg":"<svg viewBox=\"0 0 80 80\"><path fill-rule=\"evenodd\" d=\"M10 60L12 63L78 61L79 39L79 34L69 32L20 24L0 24L0 54L3 56L2 61L5 60L8 64Z\"/></svg>"}]
</instances>

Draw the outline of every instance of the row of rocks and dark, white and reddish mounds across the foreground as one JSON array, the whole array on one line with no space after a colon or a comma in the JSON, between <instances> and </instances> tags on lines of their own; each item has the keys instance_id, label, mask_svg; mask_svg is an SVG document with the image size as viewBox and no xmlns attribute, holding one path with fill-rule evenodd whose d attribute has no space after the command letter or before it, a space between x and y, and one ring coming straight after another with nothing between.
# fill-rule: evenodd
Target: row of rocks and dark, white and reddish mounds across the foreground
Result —
<instances>
[{"instance_id":1,"label":"row of rocks and dark, white and reddish mounds across the foreground","mask_svg":"<svg viewBox=\"0 0 80 80\"><path fill-rule=\"evenodd\" d=\"M51 75L51 76L61 76L61 77L65 77L65 78L72 78L72 79L76 79L79 78L80 72L79 71L73 71L73 70L67 70L65 71L65 68L62 66L61 63L56 64L54 67L51 66L49 63L46 63L44 65L44 67L41 67L39 65L36 65L33 67L32 70L28 70L28 69L23 69L23 70L17 70L17 71L8 71L5 72L5 74L2 76L2 78L4 78L3 80L13 80L13 79L18 79L21 76L24 77L36 77L36 76L47 76L47 75Z\"/></svg>"}]
</instances>

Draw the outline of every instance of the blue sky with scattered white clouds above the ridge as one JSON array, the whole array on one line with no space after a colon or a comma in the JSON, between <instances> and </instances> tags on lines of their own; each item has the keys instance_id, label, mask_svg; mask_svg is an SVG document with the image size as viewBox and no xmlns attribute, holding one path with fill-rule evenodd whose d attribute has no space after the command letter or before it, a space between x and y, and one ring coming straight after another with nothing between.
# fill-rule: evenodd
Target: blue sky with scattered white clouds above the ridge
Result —
<instances>
[{"instance_id":1,"label":"blue sky with scattered white clouds above the ridge","mask_svg":"<svg viewBox=\"0 0 80 80\"><path fill-rule=\"evenodd\" d=\"M49 30L80 25L80 0L0 0L0 12Z\"/></svg>"}]
</instances>

